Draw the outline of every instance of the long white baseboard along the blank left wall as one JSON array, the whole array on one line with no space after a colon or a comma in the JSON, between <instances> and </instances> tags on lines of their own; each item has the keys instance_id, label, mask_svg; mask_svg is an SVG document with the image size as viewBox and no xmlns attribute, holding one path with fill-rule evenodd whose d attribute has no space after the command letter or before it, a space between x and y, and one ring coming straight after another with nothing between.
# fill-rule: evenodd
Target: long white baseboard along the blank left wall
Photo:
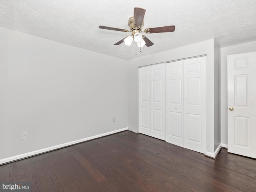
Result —
<instances>
[{"instance_id":1,"label":"long white baseboard along the blank left wall","mask_svg":"<svg viewBox=\"0 0 256 192\"><path fill-rule=\"evenodd\" d=\"M0 165L1 164L6 164L8 162L24 159L24 158L27 158L27 157L30 157L30 156L42 154L42 153L45 153L45 152L49 152L49 151L52 151L52 150L64 148L64 147L71 146L71 145L74 145L74 144L78 144L78 143L81 143L81 142L85 142L85 141L88 141L88 140L108 136L108 135L115 134L115 133L122 132L122 131L126 131L126 130L128 130L128 127L118 129L118 130L114 130L114 131L110 131L110 132L106 132L106 133L95 135L95 136L91 136L91 137L87 137L87 138L83 138L83 139L79 139L79 140L75 140L75 141L71 141L71 142L67 142L67 143L63 143L63 144L60 144L60 145L55 145L55 146L52 146L52 147L48 147L48 148L44 148L44 149L40 149L40 150L36 150L36 151L32 151L32 152L20 154L20 155L4 158L4 159L0 160Z\"/></svg>"}]
</instances>

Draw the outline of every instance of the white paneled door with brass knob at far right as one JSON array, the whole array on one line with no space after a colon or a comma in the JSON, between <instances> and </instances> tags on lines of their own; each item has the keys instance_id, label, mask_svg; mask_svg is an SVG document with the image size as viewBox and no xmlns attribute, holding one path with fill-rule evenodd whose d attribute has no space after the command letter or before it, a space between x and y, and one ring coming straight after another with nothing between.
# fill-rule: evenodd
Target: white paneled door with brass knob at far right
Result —
<instances>
[{"instance_id":1,"label":"white paneled door with brass knob at far right","mask_svg":"<svg viewBox=\"0 0 256 192\"><path fill-rule=\"evenodd\" d=\"M228 56L228 152L256 158L256 52Z\"/></svg>"}]
</instances>

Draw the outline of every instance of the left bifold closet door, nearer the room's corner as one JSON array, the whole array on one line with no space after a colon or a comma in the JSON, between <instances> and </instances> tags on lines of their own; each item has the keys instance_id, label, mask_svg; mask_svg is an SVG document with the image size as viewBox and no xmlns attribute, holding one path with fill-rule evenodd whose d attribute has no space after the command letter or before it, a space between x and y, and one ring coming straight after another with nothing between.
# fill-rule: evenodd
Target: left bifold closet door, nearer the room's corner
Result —
<instances>
[{"instance_id":1,"label":"left bifold closet door, nearer the room's corner","mask_svg":"<svg viewBox=\"0 0 256 192\"><path fill-rule=\"evenodd\" d=\"M166 140L165 63L138 69L139 132Z\"/></svg>"}]
</instances>

